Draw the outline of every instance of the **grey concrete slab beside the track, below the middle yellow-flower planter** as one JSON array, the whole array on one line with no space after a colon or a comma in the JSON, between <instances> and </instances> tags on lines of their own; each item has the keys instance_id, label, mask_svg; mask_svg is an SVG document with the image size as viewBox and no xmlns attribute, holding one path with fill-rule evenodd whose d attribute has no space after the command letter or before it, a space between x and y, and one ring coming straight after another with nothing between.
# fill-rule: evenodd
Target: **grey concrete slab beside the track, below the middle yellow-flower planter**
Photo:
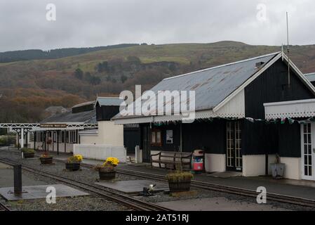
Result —
<instances>
[{"instance_id":1,"label":"grey concrete slab beside the track, below the middle yellow-flower planter","mask_svg":"<svg viewBox=\"0 0 315 225\"><path fill-rule=\"evenodd\" d=\"M163 184L156 181L150 180L132 180L132 181L104 181L104 182L96 182L100 186L104 186L107 188L112 188L117 191L121 191L124 193L139 193L143 191L143 188L148 188L150 184L156 184L154 191L168 191L168 184Z\"/></svg>"}]
</instances>

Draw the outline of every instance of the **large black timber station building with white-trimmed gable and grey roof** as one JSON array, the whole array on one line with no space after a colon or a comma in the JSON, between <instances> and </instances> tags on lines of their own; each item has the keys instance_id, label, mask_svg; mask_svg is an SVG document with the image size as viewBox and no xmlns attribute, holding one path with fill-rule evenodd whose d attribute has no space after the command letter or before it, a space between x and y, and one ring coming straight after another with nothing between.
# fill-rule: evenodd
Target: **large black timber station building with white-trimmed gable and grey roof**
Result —
<instances>
[{"instance_id":1,"label":"large black timber station building with white-trimmed gable and grey roof","mask_svg":"<svg viewBox=\"0 0 315 225\"><path fill-rule=\"evenodd\" d=\"M315 98L315 88L282 53L272 53L163 79L158 91L195 91L195 120L178 115L116 115L116 124L140 124L143 160L156 151L206 151L206 170L268 172L275 155L301 158L300 124L266 122L264 103ZM289 162L289 161L288 161ZM269 171L270 172L270 171Z\"/></svg>"}]
</instances>

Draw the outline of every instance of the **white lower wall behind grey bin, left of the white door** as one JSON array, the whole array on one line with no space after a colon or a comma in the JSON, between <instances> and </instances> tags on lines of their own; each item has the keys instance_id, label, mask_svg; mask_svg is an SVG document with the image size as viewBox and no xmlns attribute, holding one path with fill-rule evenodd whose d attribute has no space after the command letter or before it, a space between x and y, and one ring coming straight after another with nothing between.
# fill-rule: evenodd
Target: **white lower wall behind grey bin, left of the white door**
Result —
<instances>
[{"instance_id":1,"label":"white lower wall behind grey bin, left of the white door","mask_svg":"<svg viewBox=\"0 0 315 225\"><path fill-rule=\"evenodd\" d=\"M281 157L281 163L284 163L284 177L287 179L301 179L301 158Z\"/></svg>"}]
</instances>

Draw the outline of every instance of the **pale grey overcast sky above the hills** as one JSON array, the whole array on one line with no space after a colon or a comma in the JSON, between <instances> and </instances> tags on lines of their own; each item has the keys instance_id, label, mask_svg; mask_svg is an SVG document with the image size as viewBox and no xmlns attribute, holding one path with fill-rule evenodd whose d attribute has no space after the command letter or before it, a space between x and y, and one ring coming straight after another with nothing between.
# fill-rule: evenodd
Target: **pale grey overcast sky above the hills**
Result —
<instances>
[{"instance_id":1,"label":"pale grey overcast sky above the hills","mask_svg":"<svg viewBox=\"0 0 315 225\"><path fill-rule=\"evenodd\" d=\"M46 19L47 4L55 4L55 21ZM314 0L0 0L0 52L142 42L281 45L286 11L291 44L315 44L314 9Z\"/></svg>"}]
</instances>

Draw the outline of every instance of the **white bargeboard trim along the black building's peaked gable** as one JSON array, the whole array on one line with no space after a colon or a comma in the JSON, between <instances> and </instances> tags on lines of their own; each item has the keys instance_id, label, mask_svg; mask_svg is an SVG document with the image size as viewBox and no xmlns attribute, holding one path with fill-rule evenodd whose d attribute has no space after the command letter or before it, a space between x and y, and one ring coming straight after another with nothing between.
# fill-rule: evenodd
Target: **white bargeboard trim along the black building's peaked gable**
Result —
<instances>
[{"instance_id":1,"label":"white bargeboard trim along the black building's peaked gable","mask_svg":"<svg viewBox=\"0 0 315 225\"><path fill-rule=\"evenodd\" d=\"M243 89L246 88L246 86L248 86L248 84L250 84L251 82L253 82L254 79L256 79L257 77L259 77L264 71L266 71L270 66L272 66L274 63L276 63L277 60L279 60L279 58L283 58L284 60L286 60L286 62L288 63L288 56L286 56L286 54L284 54L283 52L279 53L277 56L275 56L272 60L269 61L269 63L267 63L266 65L264 65L263 68L261 68L259 71L257 71L255 73L255 75L253 75L252 77L250 77L249 79L246 80L246 82L244 82L241 86L239 86L239 88L237 88L235 91L232 92L232 94L230 94L229 96L227 96L227 98L224 98L224 100L219 103L217 106L215 106L215 108L213 108L214 112L217 112L217 110L220 110L220 108L222 108L223 105L227 104L229 101L231 101L232 98L234 98L234 96L236 96L237 94L239 94L240 91L242 91ZM297 68L297 66L290 60L290 68L299 76L299 78L302 80L302 82L304 82L304 84L307 86L307 88L313 92L313 94L315 94L315 87L311 84L311 82L309 82L309 80L304 77L303 73Z\"/></svg>"}]
</instances>

